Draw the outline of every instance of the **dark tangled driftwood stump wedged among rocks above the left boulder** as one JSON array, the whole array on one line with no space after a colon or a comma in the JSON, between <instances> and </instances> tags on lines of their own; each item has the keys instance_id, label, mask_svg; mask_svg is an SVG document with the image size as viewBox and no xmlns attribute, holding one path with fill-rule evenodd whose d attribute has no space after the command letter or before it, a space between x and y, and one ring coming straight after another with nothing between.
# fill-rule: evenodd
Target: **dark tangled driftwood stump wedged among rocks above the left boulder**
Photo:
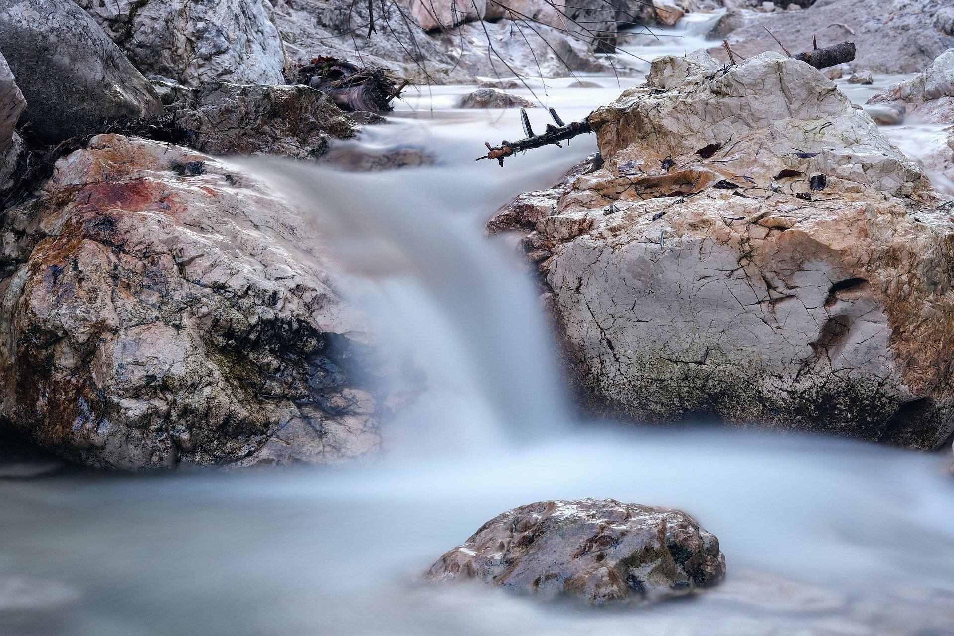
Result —
<instances>
[{"instance_id":1,"label":"dark tangled driftwood stump wedged among rocks above the left boulder","mask_svg":"<svg viewBox=\"0 0 954 636\"><path fill-rule=\"evenodd\" d=\"M327 94L343 111L383 113L392 110L408 81L378 67L360 67L324 56L299 68L298 82Z\"/></svg>"}]
</instances>

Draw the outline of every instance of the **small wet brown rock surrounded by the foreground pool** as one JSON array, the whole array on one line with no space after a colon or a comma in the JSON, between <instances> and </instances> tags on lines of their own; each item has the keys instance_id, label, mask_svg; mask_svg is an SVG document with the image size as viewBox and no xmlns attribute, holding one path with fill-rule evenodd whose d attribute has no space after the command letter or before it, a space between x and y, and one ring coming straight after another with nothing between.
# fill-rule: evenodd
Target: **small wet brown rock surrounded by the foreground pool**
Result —
<instances>
[{"instance_id":1,"label":"small wet brown rock surrounded by the foreground pool","mask_svg":"<svg viewBox=\"0 0 954 636\"><path fill-rule=\"evenodd\" d=\"M425 576L592 605L646 603L716 585L725 556L715 535L678 510L612 499L538 502L491 519Z\"/></svg>"}]
</instances>

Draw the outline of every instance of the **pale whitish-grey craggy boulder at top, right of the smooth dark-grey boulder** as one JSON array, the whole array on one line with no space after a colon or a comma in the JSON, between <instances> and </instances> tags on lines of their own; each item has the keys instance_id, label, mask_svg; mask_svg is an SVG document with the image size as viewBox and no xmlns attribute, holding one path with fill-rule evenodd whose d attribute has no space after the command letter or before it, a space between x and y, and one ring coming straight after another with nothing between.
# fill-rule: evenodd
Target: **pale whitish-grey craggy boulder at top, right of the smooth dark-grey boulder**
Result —
<instances>
[{"instance_id":1,"label":"pale whitish-grey craggy boulder at top, right of the smooth dark-grey boulder","mask_svg":"<svg viewBox=\"0 0 954 636\"><path fill-rule=\"evenodd\" d=\"M191 87L211 80L285 83L284 51L267 0L77 0L76 4L144 73Z\"/></svg>"}]
</instances>

